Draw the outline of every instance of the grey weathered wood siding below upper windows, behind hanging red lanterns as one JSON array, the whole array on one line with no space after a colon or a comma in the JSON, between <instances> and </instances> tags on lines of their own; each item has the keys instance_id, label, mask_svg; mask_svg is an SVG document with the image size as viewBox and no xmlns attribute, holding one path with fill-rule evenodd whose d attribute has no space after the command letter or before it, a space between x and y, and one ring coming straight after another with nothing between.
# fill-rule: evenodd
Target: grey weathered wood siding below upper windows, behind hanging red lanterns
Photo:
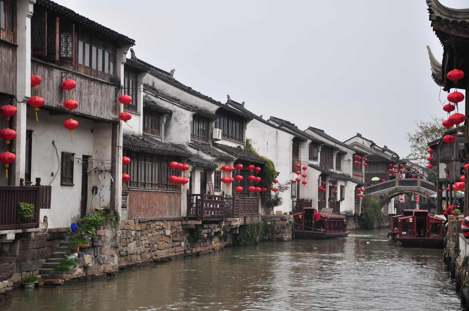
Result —
<instances>
[{"instance_id":1,"label":"grey weathered wood siding below upper windows, behind hanging red lanterns","mask_svg":"<svg viewBox=\"0 0 469 311\"><path fill-rule=\"evenodd\" d=\"M63 107L63 102L72 98L79 104L75 110L78 115L119 121L120 103L117 101L116 85L88 78L83 74L36 59L31 59L31 74L38 74L42 77L38 96L44 98L45 106L66 112L68 110ZM62 80L64 74L67 74L67 77ZM67 79L76 82L76 88L71 94L61 88L61 82Z\"/></svg>"}]
</instances>

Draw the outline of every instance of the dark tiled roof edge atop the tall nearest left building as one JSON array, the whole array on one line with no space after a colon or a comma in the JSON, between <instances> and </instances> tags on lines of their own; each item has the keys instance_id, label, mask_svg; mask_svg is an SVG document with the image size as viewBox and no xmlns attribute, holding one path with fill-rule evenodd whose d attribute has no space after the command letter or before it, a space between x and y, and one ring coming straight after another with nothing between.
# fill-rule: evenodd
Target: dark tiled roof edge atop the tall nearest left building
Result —
<instances>
[{"instance_id":1,"label":"dark tiled roof edge atop the tall nearest left building","mask_svg":"<svg viewBox=\"0 0 469 311\"><path fill-rule=\"evenodd\" d=\"M60 4L50 0L36 0L36 4L39 4L43 7L47 7L53 11L58 12L59 14L65 15L72 21L78 23L78 25L75 25L75 29L77 29L78 26L87 27L91 28L92 30L96 30L106 36L112 37L114 40L123 42L125 44L135 44L134 39L131 39L127 36L118 33L117 31L104 27L103 25L98 24L97 22L91 21L90 19L75 13L75 11L69 9L68 7L61 6Z\"/></svg>"}]
</instances>

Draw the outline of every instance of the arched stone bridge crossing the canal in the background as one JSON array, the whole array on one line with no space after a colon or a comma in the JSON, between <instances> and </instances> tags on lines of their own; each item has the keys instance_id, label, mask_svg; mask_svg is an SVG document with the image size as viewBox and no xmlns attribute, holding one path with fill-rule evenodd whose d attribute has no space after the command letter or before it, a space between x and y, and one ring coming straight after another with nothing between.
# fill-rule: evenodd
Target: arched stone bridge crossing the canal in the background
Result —
<instances>
[{"instance_id":1,"label":"arched stone bridge crossing the canal in the background","mask_svg":"<svg viewBox=\"0 0 469 311\"><path fill-rule=\"evenodd\" d=\"M365 188L365 194L379 202L383 207L394 197L401 194L418 194L427 198L434 206L437 201L430 196L437 193L437 186L420 178L394 179Z\"/></svg>"}]
</instances>

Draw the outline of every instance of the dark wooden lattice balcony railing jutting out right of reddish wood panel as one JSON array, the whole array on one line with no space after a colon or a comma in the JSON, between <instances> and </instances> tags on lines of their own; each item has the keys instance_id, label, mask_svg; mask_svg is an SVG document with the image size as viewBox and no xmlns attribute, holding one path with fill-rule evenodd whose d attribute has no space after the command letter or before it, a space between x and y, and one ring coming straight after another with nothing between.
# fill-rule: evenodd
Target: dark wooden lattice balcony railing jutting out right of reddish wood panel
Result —
<instances>
[{"instance_id":1,"label":"dark wooden lattice balcony railing jutting out right of reddish wood panel","mask_svg":"<svg viewBox=\"0 0 469 311\"><path fill-rule=\"evenodd\" d=\"M188 217L223 217L225 210L225 198L215 194L188 194Z\"/></svg>"}]
</instances>

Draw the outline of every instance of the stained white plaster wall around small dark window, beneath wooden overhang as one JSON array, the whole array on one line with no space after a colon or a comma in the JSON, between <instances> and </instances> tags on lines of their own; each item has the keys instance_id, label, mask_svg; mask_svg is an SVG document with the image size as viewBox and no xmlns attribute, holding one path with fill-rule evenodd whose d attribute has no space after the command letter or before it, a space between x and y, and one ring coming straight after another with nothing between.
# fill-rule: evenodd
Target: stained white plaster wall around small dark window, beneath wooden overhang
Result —
<instances>
[{"instance_id":1,"label":"stained white plaster wall around small dark window, beneath wooden overhang","mask_svg":"<svg viewBox=\"0 0 469 311\"><path fill-rule=\"evenodd\" d=\"M75 153L75 156L79 158L89 155L94 159L111 159L111 124L95 124L92 120L74 118L79 125L73 133L72 142L70 132L63 127L63 122L68 118L67 115L51 116L49 112L41 109L38 111L39 122L37 122L34 112L34 108L28 107L26 129L34 131L32 133L31 181L34 182L35 178L39 177L41 185L48 185L53 179L51 173L56 175L59 163L52 141L55 141L59 158L61 152L64 151ZM100 165L99 167L104 168ZM71 222L78 220L81 206L82 163L74 161L74 185L60 185L60 182L61 170L51 184L51 208L40 211L40 219L47 215L51 229L69 227ZM102 196L101 205L109 205L110 173L102 174L100 181L95 174L89 175L89 198L91 197L90 184L98 185ZM95 207L96 202L99 203L98 197L95 197Z\"/></svg>"}]
</instances>

